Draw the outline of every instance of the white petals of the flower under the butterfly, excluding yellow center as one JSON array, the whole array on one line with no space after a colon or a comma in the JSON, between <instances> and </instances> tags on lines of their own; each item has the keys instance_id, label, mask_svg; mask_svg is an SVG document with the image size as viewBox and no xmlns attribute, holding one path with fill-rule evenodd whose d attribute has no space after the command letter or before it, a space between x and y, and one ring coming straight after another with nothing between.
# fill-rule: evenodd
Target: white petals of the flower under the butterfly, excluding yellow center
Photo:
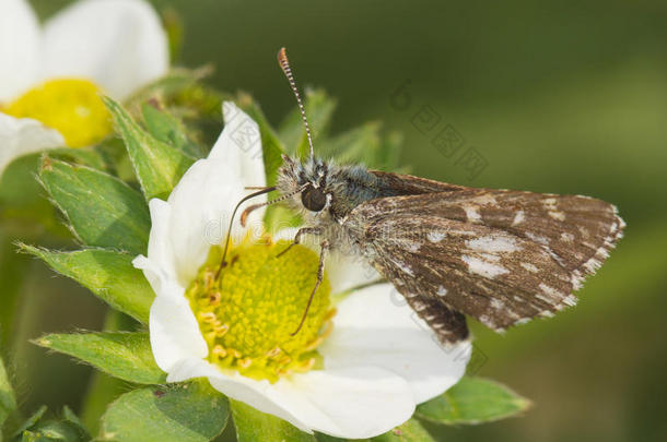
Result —
<instances>
[{"instance_id":1,"label":"white petals of the flower under the butterfly, excluding yellow center","mask_svg":"<svg viewBox=\"0 0 667 442\"><path fill-rule=\"evenodd\" d=\"M210 342L202 335L201 318L213 323L211 330L221 334L232 334L235 325L227 331L229 324L215 324L211 313L194 312L191 306L196 301L188 300L187 294L200 289L199 283L192 286L198 270L207 262L211 242L226 235L224 227L211 241L210 226L220 226L219 220L230 215L246 193L244 187L266 184L257 124L230 103L225 103L223 112L226 123L209 157L192 165L166 202L151 200L148 258L140 255L133 261L156 294L150 313L155 361L168 374L169 382L206 377L229 397L285 419L303 431L351 439L389 431L409 419L417 404L442 394L460 379L470 356L470 344L442 348L388 284L354 291L336 306L337 312L330 320L332 332L321 336L324 341L317 346L319 367L311 363L270 382L211 362L214 359L211 353L217 350L210 350ZM241 133L243 136L237 136ZM257 222L261 214L256 211L251 216ZM303 250L316 261L315 253ZM244 260L253 258L242 255L238 261ZM337 279L331 280L335 290L349 288L360 277L363 279L358 262L346 263L339 256L329 260L328 266L329 277ZM297 271L292 274L296 275ZM223 279L232 276L225 275ZM314 275L307 276L314 280ZM272 278L276 284L270 291L261 294L262 298L253 299L255 303L250 306L256 310L261 301L280 297L277 282L292 278L259 276L262 277ZM247 279L234 279L233 287L261 285L251 276ZM303 296L307 295L306 289ZM215 292L211 292L211 298L220 300ZM297 314L302 311L297 310ZM314 315L311 309L308 319ZM249 333L250 328L247 323L237 325L234 333ZM227 350L218 349L229 358ZM238 363L243 365L244 359Z\"/></svg>"}]
</instances>

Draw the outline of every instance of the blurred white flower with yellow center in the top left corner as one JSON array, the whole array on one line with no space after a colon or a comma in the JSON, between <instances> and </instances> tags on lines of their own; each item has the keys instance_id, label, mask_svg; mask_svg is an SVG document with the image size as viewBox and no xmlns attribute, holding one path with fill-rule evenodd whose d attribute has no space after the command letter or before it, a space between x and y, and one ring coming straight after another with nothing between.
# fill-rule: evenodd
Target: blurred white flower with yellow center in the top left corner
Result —
<instances>
[{"instance_id":1,"label":"blurred white flower with yellow center in the top left corner","mask_svg":"<svg viewBox=\"0 0 667 442\"><path fill-rule=\"evenodd\" d=\"M83 0L40 25L25 0L0 0L0 174L24 154L101 141L112 127L100 94L122 100L167 68L144 1Z\"/></svg>"}]
</instances>

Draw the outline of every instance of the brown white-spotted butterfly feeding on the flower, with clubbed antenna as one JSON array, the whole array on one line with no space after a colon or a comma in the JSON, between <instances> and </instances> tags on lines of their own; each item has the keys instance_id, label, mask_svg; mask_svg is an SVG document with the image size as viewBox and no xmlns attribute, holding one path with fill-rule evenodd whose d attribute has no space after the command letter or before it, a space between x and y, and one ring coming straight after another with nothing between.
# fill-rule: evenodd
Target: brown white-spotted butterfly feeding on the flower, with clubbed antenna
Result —
<instances>
[{"instance_id":1,"label":"brown white-spotted butterfly feeding on the flower, with clubbed antenna","mask_svg":"<svg viewBox=\"0 0 667 442\"><path fill-rule=\"evenodd\" d=\"M273 190L281 196L247 207L241 218L286 201L306 222L292 246L304 235L320 238L317 282L295 333L330 250L361 255L440 342L454 344L469 336L466 316L501 332L574 306L572 292L622 237L617 208L594 198L477 189L317 158L284 48L278 61L296 97L309 157L283 155L276 187L242 202Z\"/></svg>"}]
</instances>

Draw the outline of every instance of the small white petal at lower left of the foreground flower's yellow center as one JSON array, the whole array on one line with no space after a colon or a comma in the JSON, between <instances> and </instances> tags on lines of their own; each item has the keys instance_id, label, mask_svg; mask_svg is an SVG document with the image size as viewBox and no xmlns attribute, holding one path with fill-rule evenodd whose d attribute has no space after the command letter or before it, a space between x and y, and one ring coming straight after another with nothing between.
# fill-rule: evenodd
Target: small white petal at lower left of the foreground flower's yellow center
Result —
<instances>
[{"instance_id":1,"label":"small white petal at lower left of the foreground flower's yellow center","mask_svg":"<svg viewBox=\"0 0 667 442\"><path fill-rule=\"evenodd\" d=\"M199 324L190 306L176 285L163 287L172 295L157 295L151 306L149 320L151 348L157 367L167 373L179 361L204 358L209 350L199 332ZM180 296L177 296L177 294Z\"/></svg>"}]
</instances>

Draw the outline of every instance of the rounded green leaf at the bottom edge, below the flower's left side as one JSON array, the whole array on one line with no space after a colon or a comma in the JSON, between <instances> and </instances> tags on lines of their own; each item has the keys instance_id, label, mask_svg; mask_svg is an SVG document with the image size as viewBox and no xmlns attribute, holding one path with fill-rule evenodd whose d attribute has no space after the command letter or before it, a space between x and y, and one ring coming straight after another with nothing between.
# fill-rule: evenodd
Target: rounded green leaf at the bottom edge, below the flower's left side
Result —
<instances>
[{"instance_id":1,"label":"rounded green leaf at the bottom edge, below the flower's left side","mask_svg":"<svg viewBox=\"0 0 667 442\"><path fill-rule=\"evenodd\" d=\"M134 390L109 406L98 439L204 442L222 432L229 411L227 399L203 382Z\"/></svg>"}]
</instances>

